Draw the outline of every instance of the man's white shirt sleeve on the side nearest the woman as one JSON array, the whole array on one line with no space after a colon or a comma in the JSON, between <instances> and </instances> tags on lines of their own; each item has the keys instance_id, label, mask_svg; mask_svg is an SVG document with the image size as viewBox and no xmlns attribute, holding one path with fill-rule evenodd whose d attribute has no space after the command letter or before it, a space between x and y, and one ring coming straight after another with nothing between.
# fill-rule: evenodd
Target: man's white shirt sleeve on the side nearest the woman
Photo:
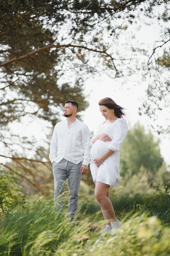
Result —
<instances>
[{"instance_id":1,"label":"man's white shirt sleeve on the side nearest the woman","mask_svg":"<svg viewBox=\"0 0 170 256\"><path fill-rule=\"evenodd\" d=\"M90 162L90 132L87 125L84 126L82 132L82 148L83 148L83 164L87 165Z\"/></svg>"}]
</instances>

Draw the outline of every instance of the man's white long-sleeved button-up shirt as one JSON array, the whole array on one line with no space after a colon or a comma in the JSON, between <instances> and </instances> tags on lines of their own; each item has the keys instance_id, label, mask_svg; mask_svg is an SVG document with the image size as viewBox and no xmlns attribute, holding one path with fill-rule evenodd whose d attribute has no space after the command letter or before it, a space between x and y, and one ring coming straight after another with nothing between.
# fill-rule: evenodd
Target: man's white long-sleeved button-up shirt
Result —
<instances>
[{"instance_id":1,"label":"man's white long-sleeved button-up shirt","mask_svg":"<svg viewBox=\"0 0 170 256\"><path fill-rule=\"evenodd\" d=\"M61 121L54 127L50 143L49 159L59 163L66 159L74 164L90 162L90 135L86 124L76 119L68 128L68 121Z\"/></svg>"}]
</instances>

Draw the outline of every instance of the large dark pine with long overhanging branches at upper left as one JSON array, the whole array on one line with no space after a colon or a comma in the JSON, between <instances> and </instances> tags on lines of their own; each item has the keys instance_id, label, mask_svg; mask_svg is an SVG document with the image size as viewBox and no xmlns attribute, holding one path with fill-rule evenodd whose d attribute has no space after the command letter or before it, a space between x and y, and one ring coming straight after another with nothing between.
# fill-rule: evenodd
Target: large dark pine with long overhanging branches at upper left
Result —
<instances>
[{"instance_id":1,"label":"large dark pine with long overhanging branches at upper left","mask_svg":"<svg viewBox=\"0 0 170 256\"><path fill-rule=\"evenodd\" d=\"M39 146L34 159L28 158L35 141L9 132L10 124L26 117L54 126L65 98L81 103L80 114L88 106L83 79L101 72L117 78L134 74L139 70L136 52L145 52L129 39L120 47L120 36L141 14L149 22L160 18L168 4L167 0L1 1L0 137L5 151L1 156L27 172L27 165L42 162L42 157L43 166L48 165L48 150L44 154ZM157 7L161 8L156 13ZM36 186L35 173L29 175Z\"/></svg>"}]
</instances>

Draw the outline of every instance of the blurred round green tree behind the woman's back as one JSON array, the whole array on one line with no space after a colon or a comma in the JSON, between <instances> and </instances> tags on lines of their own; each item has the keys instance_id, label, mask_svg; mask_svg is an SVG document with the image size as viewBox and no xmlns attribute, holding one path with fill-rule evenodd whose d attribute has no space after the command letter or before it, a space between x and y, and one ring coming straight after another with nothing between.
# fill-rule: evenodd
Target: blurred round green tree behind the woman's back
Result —
<instances>
[{"instance_id":1,"label":"blurred round green tree behind the woman's back","mask_svg":"<svg viewBox=\"0 0 170 256\"><path fill-rule=\"evenodd\" d=\"M157 173L163 164L160 154L159 139L155 141L153 134L145 132L144 126L135 124L122 144L120 151L120 172L125 175L127 171L131 174L139 172L141 166L150 171L153 175Z\"/></svg>"}]
</instances>

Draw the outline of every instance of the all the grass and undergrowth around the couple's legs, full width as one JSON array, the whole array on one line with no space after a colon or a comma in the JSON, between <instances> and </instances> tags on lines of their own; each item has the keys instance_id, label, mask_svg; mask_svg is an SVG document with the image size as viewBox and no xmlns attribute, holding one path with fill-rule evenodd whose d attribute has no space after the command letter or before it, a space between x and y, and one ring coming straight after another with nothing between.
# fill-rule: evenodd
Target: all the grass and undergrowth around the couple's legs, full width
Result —
<instances>
[{"instance_id":1,"label":"all the grass and undergrowth around the couple's legs, full width","mask_svg":"<svg viewBox=\"0 0 170 256\"><path fill-rule=\"evenodd\" d=\"M134 182L135 179L135 182ZM94 187L82 184L77 222L69 222L67 204L55 212L52 200L27 201L15 182L1 175L0 256L169 256L170 183L148 189L146 175L111 189L122 226L113 234L97 232L105 224ZM69 193L64 193L68 202ZM24 200L23 200L24 199Z\"/></svg>"}]
</instances>

